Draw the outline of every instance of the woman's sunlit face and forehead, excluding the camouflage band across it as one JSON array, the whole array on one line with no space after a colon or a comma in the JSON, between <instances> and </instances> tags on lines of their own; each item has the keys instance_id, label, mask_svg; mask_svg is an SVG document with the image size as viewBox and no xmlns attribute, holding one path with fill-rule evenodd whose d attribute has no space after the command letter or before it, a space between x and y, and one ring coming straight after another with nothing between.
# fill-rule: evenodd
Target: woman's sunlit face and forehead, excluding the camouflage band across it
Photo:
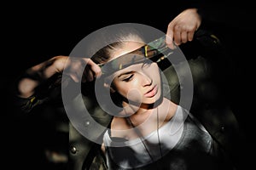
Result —
<instances>
[{"instance_id":1,"label":"woman's sunlit face and forehead, excluding the camouflage band across it","mask_svg":"<svg viewBox=\"0 0 256 170\"><path fill-rule=\"evenodd\" d=\"M125 42L125 45L113 53L113 58L127 54L142 47L139 42ZM147 59L147 63L130 65L113 73L114 90L136 103L153 104L160 99L160 71L156 63Z\"/></svg>"}]
</instances>

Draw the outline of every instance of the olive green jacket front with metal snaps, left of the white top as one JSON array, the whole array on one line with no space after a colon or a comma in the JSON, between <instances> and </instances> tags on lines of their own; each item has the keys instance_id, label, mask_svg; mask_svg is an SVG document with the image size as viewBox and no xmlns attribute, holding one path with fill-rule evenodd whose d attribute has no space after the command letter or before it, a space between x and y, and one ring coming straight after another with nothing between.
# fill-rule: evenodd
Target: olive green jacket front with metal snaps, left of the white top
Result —
<instances>
[{"instance_id":1,"label":"olive green jacket front with metal snaps, left of the white top","mask_svg":"<svg viewBox=\"0 0 256 170\"><path fill-rule=\"evenodd\" d=\"M70 118L68 169L89 169L93 159L100 155L102 135L112 116L102 111L93 98L82 94L67 105L67 115ZM96 164L94 166L101 167L104 162L97 161Z\"/></svg>"}]
</instances>

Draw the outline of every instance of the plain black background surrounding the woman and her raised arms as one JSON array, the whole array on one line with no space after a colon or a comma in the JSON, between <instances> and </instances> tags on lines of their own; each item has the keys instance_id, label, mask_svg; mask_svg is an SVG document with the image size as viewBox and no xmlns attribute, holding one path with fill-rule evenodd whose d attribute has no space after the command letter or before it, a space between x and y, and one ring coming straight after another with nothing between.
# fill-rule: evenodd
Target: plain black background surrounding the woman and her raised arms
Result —
<instances>
[{"instance_id":1,"label":"plain black background surrounding the woman and her raised arms","mask_svg":"<svg viewBox=\"0 0 256 170\"><path fill-rule=\"evenodd\" d=\"M105 2L106 3L106 2ZM26 144L27 128L14 121L12 100L15 80L32 65L55 55L68 55L73 47L92 31L118 23L140 23L166 32L168 23L185 3L14 3L5 4L2 14L2 142L4 162L10 167L20 167L19 160L26 158L36 145ZM121 3L121 2L119 2ZM118 5L113 7L113 5ZM247 134L247 144L252 145L255 114L255 8L252 3L216 1L204 4L207 8L207 25L216 32L230 56L230 88L227 89L230 105ZM229 67L230 68L230 67ZM25 122L24 122L25 123ZM31 127L32 128L32 127ZM31 134L31 133L29 133ZM20 147L27 147L26 153ZM248 147L246 147L248 148ZM30 157L30 156L28 156ZM6 161L5 161L6 160ZM251 163L248 160L248 164ZM31 162L32 163L32 162Z\"/></svg>"}]
</instances>

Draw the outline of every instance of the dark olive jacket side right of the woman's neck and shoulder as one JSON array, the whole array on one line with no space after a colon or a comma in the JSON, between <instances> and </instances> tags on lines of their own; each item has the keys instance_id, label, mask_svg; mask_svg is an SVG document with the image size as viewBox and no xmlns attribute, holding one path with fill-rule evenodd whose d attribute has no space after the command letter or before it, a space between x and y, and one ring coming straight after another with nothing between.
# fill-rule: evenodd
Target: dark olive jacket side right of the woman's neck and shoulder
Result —
<instances>
[{"instance_id":1,"label":"dark olive jacket side right of the woman's neck and shoulder","mask_svg":"<svg viewBox=\"0 0 256 170\"><path fill-rule=\"evenodd\" d=\"M183 62L168 67L163 71L167 80L164 84L164 93L171 95L173 102L186 108L187 105L183 105L181 99L181 92L184 90L184 84L187 83L186 77L191 74L193 95L184 94L183 99L192 98L192 103L191 107L186 109L201 121L233 163L239 164L242 156L241 146L245 144L244 134L229 102L222 94L221 88L218 88L224 84L215 82L213 78L214 65L209 60L197 56L184 61L189 64L189 72L183 69L185 66Z\"/></svg>"}]
</instances>

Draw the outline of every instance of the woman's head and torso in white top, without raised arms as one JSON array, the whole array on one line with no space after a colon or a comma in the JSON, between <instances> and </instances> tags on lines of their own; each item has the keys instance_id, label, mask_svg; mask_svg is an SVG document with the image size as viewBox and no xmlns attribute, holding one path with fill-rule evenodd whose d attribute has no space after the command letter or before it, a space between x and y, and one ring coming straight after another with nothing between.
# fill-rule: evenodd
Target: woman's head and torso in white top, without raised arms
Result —
<instances>
[{"instance_id":1,"label":"woman's head and torso in white top, without raised arms","mask_svg":"<svg viewBox=\"0 0 256 170\"><path fill-rule=\"evenodd\" d=\"M160 68L145 48L141 37L124 34L92 57L108 58L112 73L101 78L121 107L103 138L108 168L231 169L206 128L164 97Z\"/></svg>"}]
</instances>

